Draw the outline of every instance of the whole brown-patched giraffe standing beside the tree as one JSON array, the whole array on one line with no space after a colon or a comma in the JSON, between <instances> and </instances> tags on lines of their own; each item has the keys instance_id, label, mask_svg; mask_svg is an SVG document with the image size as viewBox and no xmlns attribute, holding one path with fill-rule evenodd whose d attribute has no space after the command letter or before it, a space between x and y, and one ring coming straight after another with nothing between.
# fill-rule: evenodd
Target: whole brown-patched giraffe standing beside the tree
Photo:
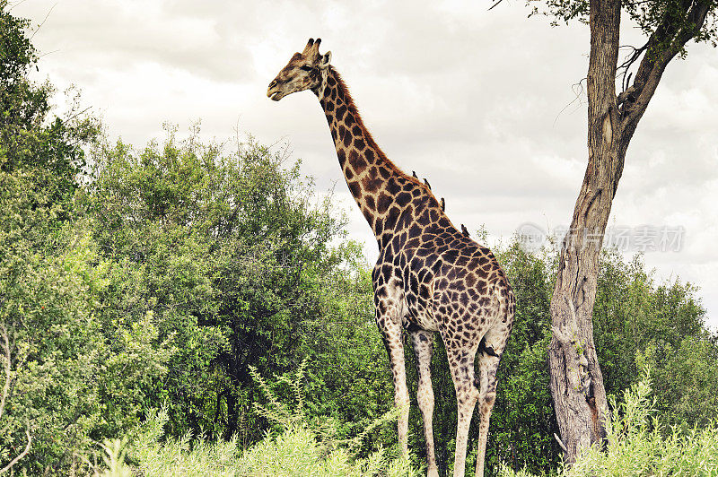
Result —
<instances>
[{"instance_id":1,"label":"whole brown-patched giraffe standing beside the tree","mask_svg":"<svg viewBox=\"0 0 718 477\"><path fill-rule=\"evenodd\" d=\"M438 475L430 371L433 336L438 333L458 404L454 475L464 474L468 427L477 403L476 475L484 475L496 370L513 324L511 285L491 251L454 227L428 181L422 183L416 173L408 176L381 152L345 82L329 65L331 52L320 54L320 41L309 39L302 53L292 56L269 83L267 97L278 101L310 90L319 98L346 185L377 240L380 254L372 271L375 317L389 353L403 455L408 457L406 333L416 354L416 402L424 420L427 475Z\"/></svg>"}]
</instances>

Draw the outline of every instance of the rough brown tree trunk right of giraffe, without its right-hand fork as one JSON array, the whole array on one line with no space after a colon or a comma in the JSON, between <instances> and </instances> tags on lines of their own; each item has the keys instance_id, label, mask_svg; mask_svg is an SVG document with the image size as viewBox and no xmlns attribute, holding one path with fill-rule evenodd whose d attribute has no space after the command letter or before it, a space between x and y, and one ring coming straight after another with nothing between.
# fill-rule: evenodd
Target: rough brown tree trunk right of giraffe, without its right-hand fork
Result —
<instances>
[{"instance_id":1,"label":"rough brown tree trunk right of giraffe, without its right-hand fork","mask_svg":"<svg viewBox=\"0 0 718 477\"><path fill-rule=\"evenodd\" d=\"M593 344L591 314L599 257L611 202L623 171L616 105L620 2L591 0L588 73L589 160L574 218L563 242L551 299L554 335L548 346L551 395L565 461L605 436L608 412L603 376Z\"/></svg>"}]
</instances>

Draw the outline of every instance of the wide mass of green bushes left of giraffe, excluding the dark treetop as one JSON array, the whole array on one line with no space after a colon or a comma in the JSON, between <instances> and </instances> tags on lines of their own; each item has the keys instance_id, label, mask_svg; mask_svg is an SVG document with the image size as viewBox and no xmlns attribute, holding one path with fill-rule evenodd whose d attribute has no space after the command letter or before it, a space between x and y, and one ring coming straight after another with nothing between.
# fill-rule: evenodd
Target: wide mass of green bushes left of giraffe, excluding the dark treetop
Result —
<instances>
[{"instance_id":1,"label":"wide mass of green bushes left of giraffe, excluding the dark treetop","mask_svg":"<svg viewBox=\"0 0 718 477\"><path fill-rule=\"evenodd\" d=\"M171 435L236 434L247 446L268 425L250 412L249 365L281 373L306 357L307 406L354 415L344 438L387 411L388 365L363 372L386 356L361 249L343 240L328 200L311 203L298 164L285 169L255 143L220 150L172 131L139 154L101 144L92 182L69 201L54 201L35 169L0 177L12 244L2 251L4 323L47 330L13 334L30 358L5 415L4 455L31 421L25 465L61 472L93 439L163 404ZM367 437L367 452L378 440Z\"/></svg>"}]
</instances>

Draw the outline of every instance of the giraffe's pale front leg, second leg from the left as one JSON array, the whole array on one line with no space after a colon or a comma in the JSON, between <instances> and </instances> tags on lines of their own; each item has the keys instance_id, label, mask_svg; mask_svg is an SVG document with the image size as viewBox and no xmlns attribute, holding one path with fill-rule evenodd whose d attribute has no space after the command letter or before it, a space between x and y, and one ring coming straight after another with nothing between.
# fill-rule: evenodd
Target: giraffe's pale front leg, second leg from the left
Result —
<instances>
[{"instance_id":1,"label":"giraffe's pale front leg, second leg from the left","mask_svg":"<svg viewBox=\"0 0 718 477\"><path fill-rule=\"evenodd\" d=\"M426 475L427 477L438 477L439 471L436 468L436 456L433 451L433 388L432 388L432 351L433 333L427 331L416 331L411 333L411 343L414 345L416 354L416 374L419 377L419 385L416 391L416 402L424 416L424 435L426 438Z\"/></svg>"}]
</instances>

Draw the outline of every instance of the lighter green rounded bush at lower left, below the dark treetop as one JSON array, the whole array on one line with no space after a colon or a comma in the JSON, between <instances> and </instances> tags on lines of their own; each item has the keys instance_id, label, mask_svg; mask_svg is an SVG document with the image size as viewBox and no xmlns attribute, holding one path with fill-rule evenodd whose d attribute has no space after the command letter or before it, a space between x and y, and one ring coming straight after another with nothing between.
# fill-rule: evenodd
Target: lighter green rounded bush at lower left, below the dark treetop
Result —
<instances>
[{"instance_id":1,"label":"lighter green rounded bush at lower left, below the dark treetop","mask_svg":"<svg viewBox=\"0 0 718 477\"><path fill-rule=\"evenodd\" d=\"M22 195L14 187L4 190L11 197ZM6 203L0 207L24 214ZM35 213L34 219L44 215ZM39 230L48 227L48 221L33 223ZM12 227L13 221L3 224ZM1 254L0 322L8 330L13 360L12 395L2 416L2 455L4 460L13 455L30 422L28 465L35 472L39 468L32 463L62 465L73 453L91 447L92 432L116 431L113 421L127 425L138 407L136 386L164 372L162 347L154 352L148 346L156 338L150 323L138 320L108 330L97 319L110 265L98 255L90 227L79 221L52 230L45 241L8 240ZM0 236L20 232L3 227Z\"/></svg>"}]
</instances>

